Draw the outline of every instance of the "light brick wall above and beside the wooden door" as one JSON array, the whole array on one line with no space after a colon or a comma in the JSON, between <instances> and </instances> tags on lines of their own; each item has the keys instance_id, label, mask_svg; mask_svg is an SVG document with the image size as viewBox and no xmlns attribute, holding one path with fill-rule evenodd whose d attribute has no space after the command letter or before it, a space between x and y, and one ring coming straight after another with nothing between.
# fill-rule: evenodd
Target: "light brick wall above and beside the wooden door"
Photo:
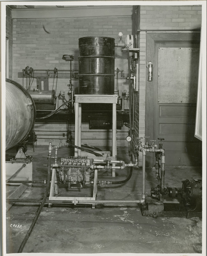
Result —
<instances>
[{"instance_id":1,"label":"light brick wall above and beside the wooden door","mask_svg":"<svg viewBox=\"0 0 207 256\"><path fill-rule=\"evenodd\" d=\"M137 9L137 20L135 10ZM133 35L137 29L197 29L201 27L202 7L196 6L133 6ZM163 31L162 31L163 32ZM170 32L170 31L166 31ZM150 32L148 32L150 33ZM159 31L158 31L159 33ZM135 93L135 116L138 120L135 125L134 138L145 136L145 105L146 101L146 32L141 31L138 34L139 52L139 90ZM155 74L154 74L155 75ZM146 134L147 135L147 134ZM137 141L134 140L134 144ZM139 165L142 165L142 156L139 156Z\"/></svg>"}]
</instances>

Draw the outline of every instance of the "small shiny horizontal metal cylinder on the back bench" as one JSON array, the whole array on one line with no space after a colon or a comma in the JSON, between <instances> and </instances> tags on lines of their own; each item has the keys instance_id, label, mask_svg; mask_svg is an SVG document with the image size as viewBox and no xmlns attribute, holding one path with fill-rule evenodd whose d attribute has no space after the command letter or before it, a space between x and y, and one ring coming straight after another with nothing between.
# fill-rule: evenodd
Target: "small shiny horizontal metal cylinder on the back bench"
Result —
<instances>
[{"instance_id":1,"label":"small shiny horizontal metal cylinder on the back bench","mask_svg":"<svg viewBox=\"0 0 207 256\"><path fill-rule=\"evenodd\" d=\"M41 91L41 90L28 90L29 94L31 95L34 103L38 104L55 104L55 90L51 91Z\"/></svg>"}]
</instances>

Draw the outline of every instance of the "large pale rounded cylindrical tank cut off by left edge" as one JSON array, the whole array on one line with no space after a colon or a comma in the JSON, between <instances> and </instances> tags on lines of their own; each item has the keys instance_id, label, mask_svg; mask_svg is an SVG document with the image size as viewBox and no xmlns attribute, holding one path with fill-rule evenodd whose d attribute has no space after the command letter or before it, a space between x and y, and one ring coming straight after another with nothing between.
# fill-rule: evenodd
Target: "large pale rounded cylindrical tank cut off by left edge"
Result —
<instances>
[{"instance_id":1,"label":"large pale rounded cylindrical tank cut off by left edge","mask_svg":"<svg viewBox=\"0 0 207 256\"><path fill-rule=\"evenodd\" d=\"M26 89L6 78L6 150L22 143L32 131L36 109Z\"/></svg>"}]
</instances>

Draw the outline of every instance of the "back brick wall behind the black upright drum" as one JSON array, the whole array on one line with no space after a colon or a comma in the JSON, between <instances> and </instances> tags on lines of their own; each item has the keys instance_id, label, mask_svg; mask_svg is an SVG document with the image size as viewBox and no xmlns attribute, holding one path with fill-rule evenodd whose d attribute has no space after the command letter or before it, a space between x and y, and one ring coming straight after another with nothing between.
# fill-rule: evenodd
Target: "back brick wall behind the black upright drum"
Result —
<instances>
[{"instance_id":1,"label":"back brick wall behind the black upright drum","mask_svg":"<svg viewBox=\"0 0 207 256\"><path fill-rule=\"evenodd\" d=\"M47 30L49 33L47 33ZM78 38L84 36L107 36L115 38L123 33L125 36L132 33L132 17L130 16L104 16L84 18L41 18L41 19L13 19L13 80L23 84L22 78L18 78L18 72L30 66L33 69L50 69L51 72L57 69L70 69L69 62L62 59L63 54L72 54L72 69L78 70ZM121 48L115 47L115 70L119 68L128 75L127 54L122 53ZM77 71L78 72L78 71ZM68 73L70 74L70 73ZM120 73L119 73L120 74ZM24 80L24 86L26 80ZM56 84L56 80L55 80ZM65 92L66 99L69 99L68 85L69 78L58 78L56 95ZM78 92L78 81L72 81L74 92ZM49 89L53 86L53 79L49 78ZM36 88L34 79L31 89ZM116 88L116 79L115 79ZM119 93L122 95L128 89L128 80L119 79ZM59 105L63 102L60 99ZM128 107L126 107L128 108ZM70 127L74 131L74 126ZM89 124L83 124L82 142L94 146L110 146L111 132L107 130L89 130ZM35 124L38 144L48 144L45 138L63 138L62 131L67 130L65 124ZM41 132L39 132L39 130ZM50 131L55 135L49 136ZM57 132L56 132L57 131ZM40 135L43 134L43 135ZM51 134L51 133L50 133ZM57 136L58 134L58 136ZM128 128L123 127L117 130L117 146L127 146L125 138L128 135ZM74 134L73 134L74 138ZM64 138L63 138L64 139ZM56 140L56 139L55 139ZM59 140L57 139L57 142ZM56 142L56 143L57 143ZM65 141L64 141L65 142Z\"/></svg>"}]
</instances>

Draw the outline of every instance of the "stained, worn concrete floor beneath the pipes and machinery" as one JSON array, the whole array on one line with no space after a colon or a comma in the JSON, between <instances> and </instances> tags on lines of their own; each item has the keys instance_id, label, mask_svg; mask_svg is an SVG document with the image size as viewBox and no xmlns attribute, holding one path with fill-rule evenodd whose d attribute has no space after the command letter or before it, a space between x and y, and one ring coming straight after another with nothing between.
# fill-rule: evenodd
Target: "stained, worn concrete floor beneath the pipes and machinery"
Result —
<instances>
[{"instance_id":1,"label":"stained, worn concrete floor beneath the pipes and machinery","mask_svg":"<svg viewBox=\"0 0 207 256\"><path fill-rule=\"evenodd\" d=\"M33 160L33 180L47 179L47 146L37 146L35 152L27 150ZM7 156L13 156L13 150ZM53 153L54 154L54 153ZM69 148L58 150L58 157L70 156ZM117 148L117 160L129 162L128 148ZM167 161L167 156L166 156ZM99 180L123 180L129 168L99 173ZM181 188L181 180L201 179L200 167L166 167L165 186ZM155 169L146 169L146 194L157 186ZM20 198L42 199L44 184L34 184ZM98 187L105 190L105 199L139 200L142 189L142 168L134 168L131 179L122 185ZM74 190L72 192L72 190ZM75 191L76 190L76 191ZM59 195L82 193L87 196L90 188L60 188ZM70 194L71 195L71 194ZM29 229L38 205L15 203L6 217L6 250L16 253ZM21 228L10 225L19 224ZM52 206L43 207L37 223L24 247L24 253L201 253L202 220L185 217L143 217L136 204L104 205L91 209L91 206Z\"/></svg>"}]
</instances>

